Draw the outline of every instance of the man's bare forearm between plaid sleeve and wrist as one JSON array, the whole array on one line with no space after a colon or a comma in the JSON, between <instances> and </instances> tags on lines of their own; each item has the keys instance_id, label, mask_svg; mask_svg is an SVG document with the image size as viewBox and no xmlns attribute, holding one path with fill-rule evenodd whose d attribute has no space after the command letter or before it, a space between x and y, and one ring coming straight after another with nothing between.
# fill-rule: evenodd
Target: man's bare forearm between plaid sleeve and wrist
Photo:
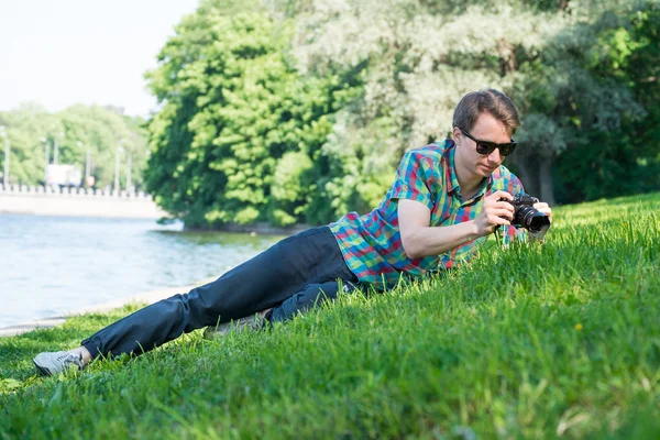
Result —
<instances>
[{"instance_id":1,"label":"man's bare forearm between plaid sleeve and wrist","mask_svg":"<svg viewBox=\"0 0 660 440\"><path fill-rule=\"evenodd\" d=\"M474 220L450 227L416 228L403 237L409 258L440 255L480 237Z\"/></svg>"}]
</instances>

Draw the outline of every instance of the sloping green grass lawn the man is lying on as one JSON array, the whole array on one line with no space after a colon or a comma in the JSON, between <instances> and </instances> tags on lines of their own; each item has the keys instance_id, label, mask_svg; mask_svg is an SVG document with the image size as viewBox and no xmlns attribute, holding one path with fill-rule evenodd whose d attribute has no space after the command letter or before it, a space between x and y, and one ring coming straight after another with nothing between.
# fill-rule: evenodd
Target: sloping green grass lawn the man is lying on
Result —
<instances>
[{"instance_id":1,"label":"sloping green grass lawn the man is lying on","mask_svg":"<svg viewBox=\"0 0 660 440\"><path fill-rule=\"evenodd\" d=\"M0 438L660 438L660 194L556 210L544 245L40 378L131 311L0 339Z\"/></svg>"}]
</instances>

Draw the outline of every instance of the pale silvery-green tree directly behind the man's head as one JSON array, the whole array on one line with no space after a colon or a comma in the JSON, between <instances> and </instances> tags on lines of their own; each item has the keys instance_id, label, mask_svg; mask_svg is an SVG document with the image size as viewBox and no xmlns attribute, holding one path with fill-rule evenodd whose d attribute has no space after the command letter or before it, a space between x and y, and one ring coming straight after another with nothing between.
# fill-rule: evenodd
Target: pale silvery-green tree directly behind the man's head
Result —
<instances>
[{"instance_id":1,"label":"pale silvery-green tree directly behind the man's head","mask_svg":"<svg viewBox=\"0 0 660 440\"><path fill-rule=\"evenodd\" d=\"M270 4L296 19L301 72L361 69L364 92L344 110L345 123L333 134L343 141L342 133L351 133L349 150L366 153L358 161L370 164L374 177L392 169L403 151L446 136L462 95L495 87L514 98L524 117L520 147L507 163L532 193L553 204L552 164L563 151L590 147L586 131L606 133L644 114L628 85L600 77L585 57L598 51L601 34L623 25L616 18L648 9L649 2ZM392 135L383 140L381 133ZM336 150L332 142L324 147Z\"/></svg>"}]
</instances>

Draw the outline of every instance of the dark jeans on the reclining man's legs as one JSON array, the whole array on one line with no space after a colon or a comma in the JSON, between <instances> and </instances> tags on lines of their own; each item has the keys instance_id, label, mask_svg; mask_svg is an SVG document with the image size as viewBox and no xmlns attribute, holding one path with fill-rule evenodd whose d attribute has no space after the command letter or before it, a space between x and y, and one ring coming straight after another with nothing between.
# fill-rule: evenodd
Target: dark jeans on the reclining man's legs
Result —
<instances>
[{"instance_id":1,"label":"dark jeans on the reclining man's legs","mask_svg":"<svg viewBox=\"0 0 660 440\"><path fill-rule=\"evenodd\" d=\"M154 302L82 341L94 358L141 354L183 333L229 322L274 307L271 321L286 320L317 302L334 299L338 280L355 288L328 227L282 240L252 260L185 295Z\"/></svg>"}]
</instances>

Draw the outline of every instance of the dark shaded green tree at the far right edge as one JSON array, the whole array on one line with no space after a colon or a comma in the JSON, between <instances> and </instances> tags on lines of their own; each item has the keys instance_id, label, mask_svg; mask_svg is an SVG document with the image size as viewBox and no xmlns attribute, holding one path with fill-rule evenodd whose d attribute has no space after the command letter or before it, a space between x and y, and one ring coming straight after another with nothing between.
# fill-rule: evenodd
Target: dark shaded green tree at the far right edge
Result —
<instances>
[{"instance_id":1,"label":"dark shaded green tree at the far right edge","mask_svg":"<svg viewBox=\"0 0 660 440\"><path fill-rule=\"evenodd\" d=\"M604 16L607 22L583 56L594 77L624 85L641 111L623 112L620 123L607 131L584 130L581 141L586 145L558 158L564 201L660 188L660 8L654 2L642 7ZM610 96L606 90L603 99Z\"/></svg>"}]
</instances>

